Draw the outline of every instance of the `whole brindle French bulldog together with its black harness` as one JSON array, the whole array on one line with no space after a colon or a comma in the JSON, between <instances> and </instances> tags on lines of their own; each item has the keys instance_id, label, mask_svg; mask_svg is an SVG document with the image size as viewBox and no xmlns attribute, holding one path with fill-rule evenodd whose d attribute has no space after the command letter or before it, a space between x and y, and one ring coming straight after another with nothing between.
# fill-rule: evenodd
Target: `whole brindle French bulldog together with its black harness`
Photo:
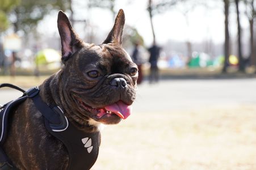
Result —
<instances>
[{"instance_id":1,"label":"whole brindle French bulldog together with its black harness","mask_svg":"<svg viewBox=\"0 0 256 170\"><path fill-rule=\"evenodd\" d=\"M9 167L93 167L100 124L127 118L136 97L137 66L121 46L124 20L120 10L106 40L95 45L83 42L58 13L62 69L1 111L9 115L3 117L7 135L0 141Z\"/></svg>"}]
</instances>

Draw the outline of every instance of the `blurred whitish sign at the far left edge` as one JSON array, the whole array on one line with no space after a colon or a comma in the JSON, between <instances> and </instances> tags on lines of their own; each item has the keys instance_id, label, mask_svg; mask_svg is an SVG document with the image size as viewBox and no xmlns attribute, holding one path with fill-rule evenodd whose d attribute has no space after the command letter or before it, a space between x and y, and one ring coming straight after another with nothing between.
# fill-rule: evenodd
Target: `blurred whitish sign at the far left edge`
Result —
<instances>
[{"instance_id":1,"label":"blurred whitish sign at the far left edge","mask_svg":"<svg viewBox=\"0 0 256 170\"><path fill-rule=\"evenodd\" d=\"M18 52L22 49L22 40L18 35L13 33L5 37L5 40L3 41L3 48L13 52Z\"/></svg>"}]
</instances>

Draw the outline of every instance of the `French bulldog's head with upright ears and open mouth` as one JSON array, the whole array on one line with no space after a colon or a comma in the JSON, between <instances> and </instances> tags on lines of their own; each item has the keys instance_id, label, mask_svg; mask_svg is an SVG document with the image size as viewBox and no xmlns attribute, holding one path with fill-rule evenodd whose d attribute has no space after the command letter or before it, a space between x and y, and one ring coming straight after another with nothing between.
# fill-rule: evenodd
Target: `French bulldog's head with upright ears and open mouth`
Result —
<instances>
[{"instance_id":1,"label":"French bulldog's head with upright ears and open mouth","mask_svg":"<svg viewBox=\"0 0 256 170\"><path fill-rule=\"evenodd\" d=\"M79 39L68 17L58 13L58 31L64 68L62 103L69 104L77 122L117 124L131 114L138 69L121 47L124 12L119 10L107 39L100 45Z\"/></svg>"}]
</instances>

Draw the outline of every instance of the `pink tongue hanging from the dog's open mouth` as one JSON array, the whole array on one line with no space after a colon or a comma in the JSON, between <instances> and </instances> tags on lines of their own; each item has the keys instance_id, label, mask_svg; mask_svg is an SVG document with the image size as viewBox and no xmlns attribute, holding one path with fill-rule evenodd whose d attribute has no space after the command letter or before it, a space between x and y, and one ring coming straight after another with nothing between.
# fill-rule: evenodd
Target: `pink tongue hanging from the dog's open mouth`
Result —
<instances>
[{"instance_id":1,"label":"pink tongue hanging from the dog's open mouth","mask_svg":"<svg viewBox=\"0 0 256 170\"><path fill-rule=\"evenodd\" d=\"M124 104L123 101L119 100L112 105L107 105L105 107L107 111L115 113L120 118L127 118L131 114L131 105Z\"/></svg>"}]
</instances>

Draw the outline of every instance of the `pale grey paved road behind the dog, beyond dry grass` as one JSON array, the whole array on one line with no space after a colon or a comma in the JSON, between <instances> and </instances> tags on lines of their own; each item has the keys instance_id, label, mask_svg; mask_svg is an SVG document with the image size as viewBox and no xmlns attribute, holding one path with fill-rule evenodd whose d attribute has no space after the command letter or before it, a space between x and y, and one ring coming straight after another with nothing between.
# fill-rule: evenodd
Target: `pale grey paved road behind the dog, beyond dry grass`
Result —
<instances>
[{"instance_id":1,"label":"pale grey paved road behind the dog, beyond dry grass","mask_svg":"<svg viewBox=\"0 0 256 170\"><path fill-rule=\"evenodd\" d=\"M1 90L0 104L21 95ZM135 112L162 112L200 107L256 105L256 79L163 80L141 84L133 106Z\"/></svg>"}]
</instances>

